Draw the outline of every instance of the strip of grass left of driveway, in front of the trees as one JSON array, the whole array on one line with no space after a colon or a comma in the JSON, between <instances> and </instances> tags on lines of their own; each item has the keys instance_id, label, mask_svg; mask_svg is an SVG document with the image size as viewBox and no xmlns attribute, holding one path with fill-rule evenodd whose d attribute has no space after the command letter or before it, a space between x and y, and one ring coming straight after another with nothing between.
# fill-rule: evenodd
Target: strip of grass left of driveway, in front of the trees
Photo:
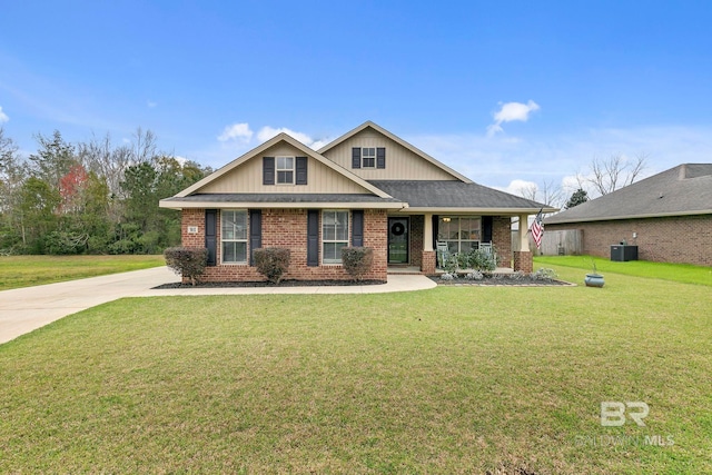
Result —
<instances>
[{"instance_id":1,"label":"strip of grass left of driveway, in front of the trees","mask_svg":"<svg viewBox=\"0 0 712 475\"><path fill-rule=\"evenodd\" d=\"M0 256L0 290L165 266L157 256Z\"/></svg>"}]
</instances>

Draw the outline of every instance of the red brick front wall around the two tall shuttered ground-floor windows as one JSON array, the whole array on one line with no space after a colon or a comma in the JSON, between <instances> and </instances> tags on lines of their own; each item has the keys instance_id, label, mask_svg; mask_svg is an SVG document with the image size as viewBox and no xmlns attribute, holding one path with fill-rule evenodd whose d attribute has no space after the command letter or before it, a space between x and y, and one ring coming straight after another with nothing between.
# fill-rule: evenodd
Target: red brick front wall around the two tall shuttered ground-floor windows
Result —
<instances>
[{"instance_id":1,"label":"red brick front wall around the two tall shuttered ground-floor windows","mask_svg":"<svg viewBox=\"0 0 712 475\"><path fill-rule=\"evenodd\" d=\"M197 234L188 234L189 226L197 226ZM350 224L349 224L350 226ZM207 267L205 281L260 281L264 276L247 264L220 264L220 214L218 212L217 266ZM340 265L307 266L307 210L264 209L263 247L286 247L291 251L291 264L285 279L296 280L346 280L350 276ZM349 227L349 231L350 231ZM350 232L349 232L350 234ZM181 212L181 238L186 247L205 247L205 209L184 209ZM374 264L365 279L387 279L387 217L385 210L364 210L364 246L374 249ZM322 251L322 220L319 216L319 258ZM249 243L248 243L249 246ZM248 248L249 255L249 248Z\"/></svg>"}]
</instances>

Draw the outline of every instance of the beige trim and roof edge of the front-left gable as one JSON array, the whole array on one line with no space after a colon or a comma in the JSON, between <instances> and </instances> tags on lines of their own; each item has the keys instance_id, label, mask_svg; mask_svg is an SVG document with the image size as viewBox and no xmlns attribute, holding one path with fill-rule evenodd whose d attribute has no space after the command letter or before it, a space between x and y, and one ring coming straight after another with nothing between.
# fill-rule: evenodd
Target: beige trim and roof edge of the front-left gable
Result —
<instances>
[{"instance_id":1,"label":"beige trim and roof edge of the front-left gable","mask_svg":"<svg viewBox=\"0 0 712 475\"><path fill-rule=\"evenodd\" d=\"M279 142L289 144L290 146L293 146L296 149L298 149L299 151L301 151L305 156L310 157L310 158L319 161L320 164L323 164L323 165L327 166L328 168L335 170L337 174L343 175L346 178L348 178L349 180L357 182L363 188L365 188L365 190L370 191L372 194L376 195L377 197L379 197L379 198L390 198L390 196L388 196L385 191L379 190L375 186L370 185L368 181L364 180L363 178L358 177L357 175L353 174L352 171L347 170L346 168L343 168L339 165L333 162L328 158L322 156L319 152L310 149L306 145L301 144L299 140L295 139L294 137L291 137L291 136L289 136L289 135L287 135L285 132L281 132L281 133L273 137L271 139L269 139L266 142L261 144L257 148L254 148L253 150L248 151L247 154L236 158L235 160L233 160L229 164L227 164L225 167L218 169L214 174L208 175L207 177L205 177L200 181L198 181L198 182L194 184L192 186L186 188L185 190L180 191L174 198L185 198L185 197L188 197L190 195L200 192L200 189L204 188L209 182L212 182L216 179L229 174L235 168L241 166L243 164L249 161L250 159L253 159L255 157L258 157L261 152L264 152L265 150L269 149L270 147L274 147L275 145L277 145Z\"/></svg>"}]
</instances>

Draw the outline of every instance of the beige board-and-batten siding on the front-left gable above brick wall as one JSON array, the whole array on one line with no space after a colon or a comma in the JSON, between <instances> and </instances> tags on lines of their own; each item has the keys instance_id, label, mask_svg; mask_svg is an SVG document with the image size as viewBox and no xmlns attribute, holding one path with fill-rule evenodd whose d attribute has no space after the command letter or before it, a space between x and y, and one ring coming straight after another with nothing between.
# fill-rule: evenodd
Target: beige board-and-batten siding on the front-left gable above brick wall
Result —
<instances>
[{"instance_id":1,"label":"beige board-and-batten siding on the front-left gable above brick wall","mask_svg":"<svg viewBox=\"0 0 712 475\"><path fill-rule=\"evenodd\" d=\"M370 194L360 185L339 175L318 160L307 158L306 185L263 185L263 157L304 157L300 151L289 145L278 144L253 157L230 172L207 184L197 192L270 192L270 194Z\"/></svg>"}]
</instances>

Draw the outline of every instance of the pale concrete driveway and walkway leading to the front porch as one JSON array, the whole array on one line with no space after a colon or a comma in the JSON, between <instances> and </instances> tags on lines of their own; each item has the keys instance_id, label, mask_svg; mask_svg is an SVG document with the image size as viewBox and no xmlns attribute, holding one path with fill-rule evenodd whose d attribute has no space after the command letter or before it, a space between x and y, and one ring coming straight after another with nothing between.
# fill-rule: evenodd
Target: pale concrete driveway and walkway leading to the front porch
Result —
<instances>
[{"instance_id":1,"label":"pale concrete driveway and walkway leading to the front porch","mask_svg":"<svg viewBox=\"0 0 712 475\"><path fill-rule=\"evenodd\" d=\"M229 287L179 288L152 287L177 283L180 278L168 267L112 274L66 283L0 291L0 344L40 328L67 315L122 297L169 295L247 295L247 294L380 294L424 290L436 284L425 276L388 275L388 283L369 286L328 287Z\"/></svg>"}]
</instances>

